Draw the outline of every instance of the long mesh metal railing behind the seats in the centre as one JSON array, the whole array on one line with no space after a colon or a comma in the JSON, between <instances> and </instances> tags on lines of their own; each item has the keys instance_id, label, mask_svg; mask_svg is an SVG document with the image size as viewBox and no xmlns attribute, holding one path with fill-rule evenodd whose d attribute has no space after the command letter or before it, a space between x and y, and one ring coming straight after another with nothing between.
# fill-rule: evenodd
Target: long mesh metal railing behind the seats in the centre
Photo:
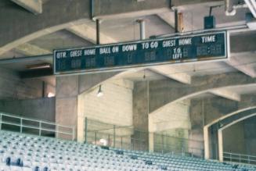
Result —
<instances>
[{"instance_id":1,"label":"long mesh metal railing behind the seats in the centre","mask_svg":"<svg viewBox=\"0 0 256 171\"><path fill-rule=\"evenodd\" d=\"M106 145L133 151L154 151L162 154L204 157L204 141L135 130L133 126L115 126L85 118L84 136L85 143L88 144Z\"/></svg>"}]
</instances>

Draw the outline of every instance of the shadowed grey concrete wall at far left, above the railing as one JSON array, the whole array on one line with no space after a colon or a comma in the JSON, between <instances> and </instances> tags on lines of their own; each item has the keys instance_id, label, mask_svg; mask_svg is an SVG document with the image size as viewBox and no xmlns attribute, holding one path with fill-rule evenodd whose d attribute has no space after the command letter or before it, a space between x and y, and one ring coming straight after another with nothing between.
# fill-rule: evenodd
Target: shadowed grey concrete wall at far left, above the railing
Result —
<instances>
[{"instance_id":1,"label":"shadowed grey concrete wall at far left, above the railing","mask_svg":"<svg viewBox=\"0 0 256 171\"><path fill-rule=\"evenodd\" d=\"M1 100L0 112L55 122L55 98Z\"/></svg>"}]
</instances>

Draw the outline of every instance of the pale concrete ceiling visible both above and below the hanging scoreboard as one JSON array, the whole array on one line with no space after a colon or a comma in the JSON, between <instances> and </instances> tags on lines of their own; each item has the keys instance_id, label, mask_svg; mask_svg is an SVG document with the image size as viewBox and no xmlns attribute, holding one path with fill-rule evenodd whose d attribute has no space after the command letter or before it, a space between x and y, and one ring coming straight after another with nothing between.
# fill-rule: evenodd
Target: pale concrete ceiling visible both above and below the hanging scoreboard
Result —
<instances>
[{"instance_id":1,"label":"pale concrete ceiling visible both above and below the hanging scoreboard","mask_svg":"<svg viewBox=\"0 0 256 171\"><path fill-rule=\"evenodd\" d=\"M50 0L42 0L43 5ZM16 4L13 4L16 5ZM217 27L240 25L245 23L245 13L248 9L238 9L235 16L225 16L224 1L203 2L199 4L189 4L178 6L178 12L182 12L184 30L201 30L203 29L204 16L209 13L210 6L219 5L212 10L216 18ZM33 15L33 14L31 14ZM37 17L37 16L34 16ZM7 17L8 18L8 17ZM119 18L108 18L103 20L100 25L101 42L114 43L121 41L134 41L139 39L139 24L135 21L138 19L146 20L146 37L161 34L174 33L174 12L171 10L149 14L144 16L128 16ZM240 34L240 33L236 33ZM249 33L254 35L254 32ZM37 37L27 41L22 45L16 46L12 50L0 55L0 59L12 59L24 56L50 54L54 49L87 47L95 44L96 41L96 23L87 20L79 24L73 24L65 30L56 30L53 33ZM255 49L256 50L256 49ZM240 60L240 56L243 57ZM231 62L204 62L204 63L187 63L184 65L166 65L140 69L138 72L124 75L128 80L157 80L173 79L184 84L191 82L191 77L204 75L215 75L218 73L242 72L249 77L254 77L256 54L247 52L244 54L232 54ZM238 59L237 59L238 58ZM16 71L26 71L27 66L50 63L52 60L35 60L33 62L18 62L0 65ZM144 78L144 73L146 77ZM256 77L256 74L255 74Z\"/></svg>"}]
</instances>

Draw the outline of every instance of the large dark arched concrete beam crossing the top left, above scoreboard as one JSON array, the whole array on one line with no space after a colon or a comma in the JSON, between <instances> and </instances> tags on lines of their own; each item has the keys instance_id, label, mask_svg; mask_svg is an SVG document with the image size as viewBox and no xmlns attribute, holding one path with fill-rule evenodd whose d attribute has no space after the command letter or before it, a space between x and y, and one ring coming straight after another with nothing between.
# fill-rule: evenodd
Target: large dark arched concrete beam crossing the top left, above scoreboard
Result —
<instances>
[{"instance_id":1,"label":"large dark arched concrete beam crossing the top left, above scoreboard","mask_svg":"<svg viewBox=\"0 0 256 171\"><path fill-rule=\"evenodd\" d=\"M13 2L0 1L0 6L9 6L9 8L0 10L2 25L0 27L0 55L37 37L69 28L78 24L79 21L90 20L91 14L92 16L115 15L124 18L125 13L145 16L147 13L151 15L152 12L163 12L163 9L170 11L170 1L168 0L144 2L95 0L92 8L90 0L63 0L61 3L49 1L44 4L45 12L36 17L13 7ZM6 16L8 16L8 20L6 20Z\"/></svg>"}]
</instances>

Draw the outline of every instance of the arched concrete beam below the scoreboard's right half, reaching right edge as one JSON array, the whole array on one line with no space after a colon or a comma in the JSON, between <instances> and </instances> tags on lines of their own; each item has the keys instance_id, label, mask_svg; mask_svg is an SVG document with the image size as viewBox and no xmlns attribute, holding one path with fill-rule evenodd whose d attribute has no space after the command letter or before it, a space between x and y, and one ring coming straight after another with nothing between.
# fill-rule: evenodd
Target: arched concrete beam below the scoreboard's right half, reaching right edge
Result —
<instances>
[{"instance_id":1,"label":"arched concrete beam below the scoreboard's right half, reaching right edge","mask_svg":"<svg viewBox=\"0 0 256 171\"><path fill-rule=\"evenodd\" d=\"M255 78L247 77L243 73L193 77L191 84L175 83L171 80L152 80L150 81L150 113L156 112L170 103L180 102L216 88L254 86L255 83Z\"/></svg>"}]
</instances>

